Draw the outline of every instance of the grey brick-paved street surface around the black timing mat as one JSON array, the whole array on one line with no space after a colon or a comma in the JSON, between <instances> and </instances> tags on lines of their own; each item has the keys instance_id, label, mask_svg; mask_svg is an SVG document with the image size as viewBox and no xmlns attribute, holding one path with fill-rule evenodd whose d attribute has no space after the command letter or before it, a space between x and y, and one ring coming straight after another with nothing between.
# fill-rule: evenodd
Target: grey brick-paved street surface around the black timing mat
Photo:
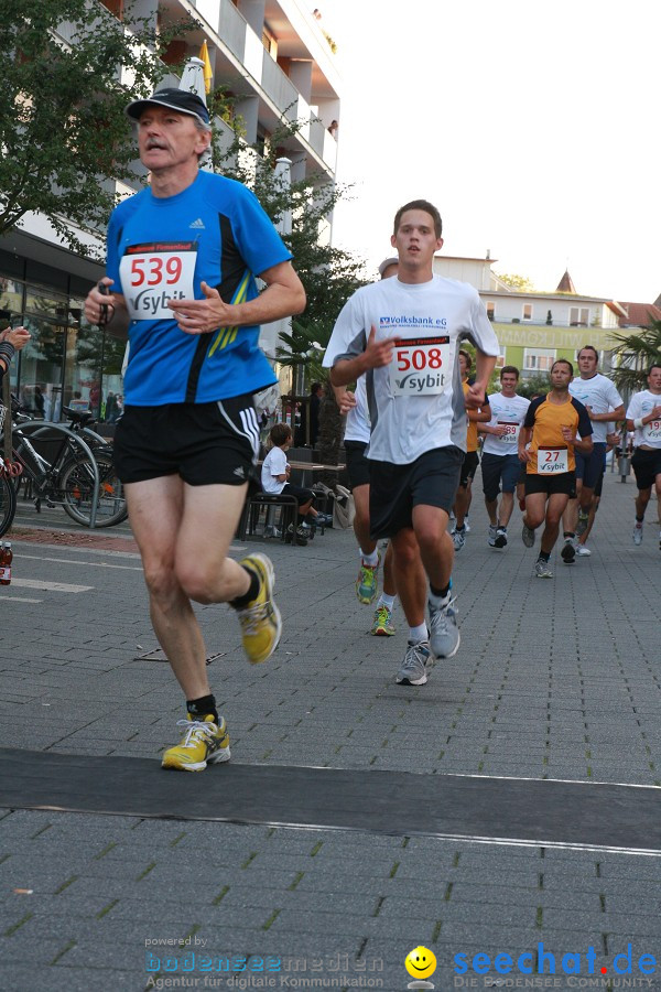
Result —
<instances>
[{"instance_id":1,"label":"grey brick-paved street surface around the black timing mat","mask_svg":"<svg viewBox=\"0 0 661 992\"><path fill-rule=\"evenodd\" d=\"M478 479L454 574L462 647L424 687L394 683L401 610L395 637L368 634L372 611L355 597L350 533L332 530L307 548L268 543L285 627L266 666L246 664L227 607L199 607L209 653L221 655L209 671L232 764L415 773L421 806L429 775L661 786L655 508L635 548L632 481L607 475L592 557L567 567L554 553L555 578L538 580L518 510L509 547L487 547L479 490ZM0 745L156 762L184 714L169 666L140 659L156 644L132 542L118 536L126 550L108 547L109 531L85 535L83 546L43 537L23 528L15 578L0 592ZM216 780L223 766L195 777L201 789L206 776ZM587 980L594 947L600 988L628 978L642 983L629 988L661 989L658 854L323 823L29 809L0 817L2 988L142 990L158 986L156 975L230 988L236 957L248 961L245 988L258 988L261 975L271 988L337 979L335 988L400 990L410 981L404 957L418 945L437 957L436 989L460 986L460 953L464 985L485 988L498 974L478 975L474 955L516 960L543 941L555 956L555 974L539 977L555 982L549 988L578 988L561 967L570 952L582 956ZM181 948L162 942L187 938ZM632 971L619 977L613 959L628 944ZM197 956L189 971L186 953ZM660 962L654 973L638 968L644 953ZM225 963L230 971L218 970ZM508 980L522 988L524 979L514 969Z\"/></svg>"}]
</instances>

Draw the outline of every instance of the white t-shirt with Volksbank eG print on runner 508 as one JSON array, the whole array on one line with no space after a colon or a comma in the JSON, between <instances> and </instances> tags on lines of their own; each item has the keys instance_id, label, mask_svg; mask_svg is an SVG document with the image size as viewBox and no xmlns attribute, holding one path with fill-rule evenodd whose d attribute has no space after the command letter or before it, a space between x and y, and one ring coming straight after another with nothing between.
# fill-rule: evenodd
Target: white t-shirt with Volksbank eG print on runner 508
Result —
<instances>
[{"instance_id":1,"label":"white t-shirt with Volksbank eG print on runner 508","mask_svg":"<svg viewBox=\"0 0 661 992\"><path fill-rule=\"evenodd\" d=\"M370 328L394 337L392 363L365 375L371 438L367 456L408 465L435 448L466 451L466 408L457 352L468 338L498 355L498 338L472 285L434 276L429 282L384 279L359 289L339 314L324 365L355 358Z\"/></svg>"}]
</instances>

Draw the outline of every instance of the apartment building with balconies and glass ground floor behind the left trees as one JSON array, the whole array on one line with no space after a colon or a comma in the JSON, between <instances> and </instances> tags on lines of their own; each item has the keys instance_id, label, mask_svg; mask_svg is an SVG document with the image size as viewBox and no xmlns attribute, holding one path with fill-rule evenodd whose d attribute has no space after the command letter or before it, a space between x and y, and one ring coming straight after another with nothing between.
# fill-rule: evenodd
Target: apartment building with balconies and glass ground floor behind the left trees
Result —
<instances>
[{"instance_id":1,"label":"apartment building with balconies and glass ground floor behind the left trees","mask_svg":"<svg viewBox=\"0 0 661 992\"><path fill-rule=\"evenodd\" d=\"M189 15L197 22L173 41L164 61L170 65L197 56L206 41L212 86L223 85L232 97L247 143L263 144L286 121L303 121L282 154L291 162L292 180L335 175L340 79L333 52L312 6L304 0L94 0L123 20L145 18L159 30ZM67 25L62 37L71 42ZM164 85L178 85L167 76ZM231 121L216 119L221 141L232 139ZM328 130L332 128L332 130ZM333 131L333 133L332 133ZM139 173L134 187L140 185ZM118 184L120 194L130 186ZM94 235L77 231L84 242L100 247ZM45 217L28 215L20 229L0 240L0 317L23 323L32 341L12 363L12 389L34 408L35 387L45 414L59 419L63 405L88 401L104 416L110 393L121 395L123 345L86 324L83 301L89 285L104 274L101 265L63 245Z\"/></svg>"}]
</instances>

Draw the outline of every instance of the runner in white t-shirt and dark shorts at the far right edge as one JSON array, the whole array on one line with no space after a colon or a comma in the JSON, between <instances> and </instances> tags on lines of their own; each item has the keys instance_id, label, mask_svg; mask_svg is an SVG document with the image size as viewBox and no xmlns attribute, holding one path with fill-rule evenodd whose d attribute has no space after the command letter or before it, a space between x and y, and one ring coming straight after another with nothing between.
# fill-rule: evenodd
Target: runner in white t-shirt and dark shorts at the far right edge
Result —
<instances>
[{"instance_id":1,"label":"runner in white t-shirt and dark shorts at the far right edge","mask_svg":"<svg viewBox=\"0 0 661 992\"><path fill-rule=\"evenodd\" d=\"M659 500L659 548L661 549L661 365L648 373L648 388L631 397L627 410L627 430L635 431L631 466L636 473L636 524L633 543L642 543L642 521L652 486Z\"/></svg>"}]
</instances>

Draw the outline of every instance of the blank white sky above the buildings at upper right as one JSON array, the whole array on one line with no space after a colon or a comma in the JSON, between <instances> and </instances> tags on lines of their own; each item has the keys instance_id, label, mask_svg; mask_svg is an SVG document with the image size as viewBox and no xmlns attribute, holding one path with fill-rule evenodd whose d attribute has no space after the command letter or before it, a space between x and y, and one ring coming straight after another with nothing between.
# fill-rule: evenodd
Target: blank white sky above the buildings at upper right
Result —
<instances>
[{"instance_id":1,"label":"blank white sky above the buildings at upper right","mask_svg":"<svg viewBox=\"0 0 661 992\"><path fill-rule=\"evenodd\" d=\"M319 0L343 75L334 241L390 254L435 203L447 255L554 290L661 293L659 0Z\"/></svg>"}]
</instances>

